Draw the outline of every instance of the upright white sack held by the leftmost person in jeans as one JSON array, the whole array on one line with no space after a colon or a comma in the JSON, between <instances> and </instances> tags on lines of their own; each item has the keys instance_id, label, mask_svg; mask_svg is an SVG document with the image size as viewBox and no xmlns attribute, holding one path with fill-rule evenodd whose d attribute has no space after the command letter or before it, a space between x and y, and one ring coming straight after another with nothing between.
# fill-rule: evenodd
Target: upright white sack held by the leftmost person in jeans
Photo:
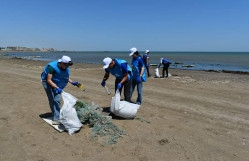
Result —
<instances>
[{"instance_id":1,"label":"upright white sack held by the leftmost person in jeans","mask_svg":"<svg viewBox=\"0 0 249 161\"><path fill-rule=\"evenodd\" d=\"M60 110L60 122L64 125L69 135L78 131L83 125L80 122L76 110L73 107L77 98L67 92L62 92L63 106Z\"/></svg>"}]
</instances>

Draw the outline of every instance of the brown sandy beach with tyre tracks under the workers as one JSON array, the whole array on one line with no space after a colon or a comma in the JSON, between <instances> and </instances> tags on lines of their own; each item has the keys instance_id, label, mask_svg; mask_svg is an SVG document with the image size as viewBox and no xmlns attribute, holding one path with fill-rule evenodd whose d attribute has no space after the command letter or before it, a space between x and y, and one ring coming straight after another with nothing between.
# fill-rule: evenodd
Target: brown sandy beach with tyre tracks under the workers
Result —
<instances>
[{"instance_id":1,"label":"brown sandy beach with tyre tracks under the workers","mask_svg":"<svg viewBox=\"0 0 249 161\"><path fill-rule=\"evenodd\" d=\"M128 135L102 146L87 125L70 136L40 118L50 112L40 80L46 64L0 58L1 161L249 160L249 75L169 69L169 78L150 77L137 113L149 122L113 119ZM66 92L110 107L101 65L74 64L70 74L86 91L68 84ZM107 86L114 93L113 76Z\"/></svg>"}]
</instances>

